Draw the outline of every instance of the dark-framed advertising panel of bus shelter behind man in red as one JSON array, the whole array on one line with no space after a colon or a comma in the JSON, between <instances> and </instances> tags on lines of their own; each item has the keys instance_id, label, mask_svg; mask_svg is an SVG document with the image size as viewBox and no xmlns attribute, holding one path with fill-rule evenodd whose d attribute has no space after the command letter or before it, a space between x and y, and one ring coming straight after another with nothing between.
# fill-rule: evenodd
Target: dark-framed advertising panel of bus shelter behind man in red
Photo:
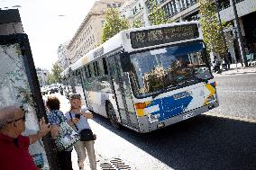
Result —
<instances>
[{"instance_id":1,"label":"dark-framed advertising panel of bus shelter behind man in red","mask_svg":"<svg viewBox=\"0 0 256 170\"><path fill-rule=\"evenodd\" d=\"M26 34L0 36L0 79L0 108L20 106L26 116L23 135L37 133L39 120L47 116ZM29 148L39 169L57 169L50 152L51 143L47 135Z\"/></svg>"}]
</instances>

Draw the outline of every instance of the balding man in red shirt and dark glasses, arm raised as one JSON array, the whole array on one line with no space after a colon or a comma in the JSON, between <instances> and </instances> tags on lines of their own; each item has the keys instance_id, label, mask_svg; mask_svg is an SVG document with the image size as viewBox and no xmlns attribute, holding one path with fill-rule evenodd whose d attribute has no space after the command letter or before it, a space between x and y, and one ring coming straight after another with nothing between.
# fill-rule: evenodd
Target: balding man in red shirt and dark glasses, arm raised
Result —
<instances>
[{"instance_id":1,"label":"balding man in red shirt and dark glasses, arm raised","mask_svg":"<svg viewBox=\"0 0 256 170\"><path fill-rule=\"evenodd\" d=\"M25 137L25 114L16 106L0 110L0 169L38 170L29 154L29 146L50 131L42 118L37 134Z\"/></svg>"}]
</instances>

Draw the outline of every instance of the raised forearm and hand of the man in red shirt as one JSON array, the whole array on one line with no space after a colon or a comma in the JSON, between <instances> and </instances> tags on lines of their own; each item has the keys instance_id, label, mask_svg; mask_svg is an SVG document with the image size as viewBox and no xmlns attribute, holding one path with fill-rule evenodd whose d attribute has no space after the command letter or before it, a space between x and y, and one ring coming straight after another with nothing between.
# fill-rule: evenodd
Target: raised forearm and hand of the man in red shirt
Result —
<instances>
[{"instance_id":1,"label":"raised forearm and hand of the man in red shirt","mask_svg":"<svg viewBox=\"0 0 256 170\"><path fill-rule=\"evenodd\" d=\"M50 124L46 124L43 117L39 122L39 126L40 126L40 130L38 131L38 133L29 136L30 144L41 139L41 137L45 136L50 131Z\"/></svg>"}]
</instances>

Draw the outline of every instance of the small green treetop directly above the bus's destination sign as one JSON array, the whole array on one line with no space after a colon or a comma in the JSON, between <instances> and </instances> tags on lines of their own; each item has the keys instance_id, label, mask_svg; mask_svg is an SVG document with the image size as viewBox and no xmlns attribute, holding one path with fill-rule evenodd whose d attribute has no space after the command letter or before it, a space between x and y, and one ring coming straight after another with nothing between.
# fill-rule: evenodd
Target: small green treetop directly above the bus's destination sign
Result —
<instances>
[{"instance_id":1,"label":"small green treetop directly above the bus's destination sign","mask_svg":"<svg viewBox=\"0 0 256 170\"><path fill-rule=\"evenodd\" d=\"M149 1L149 7L150 7L149 20L152 25L159 25L162 23L171 22L167 14L160 7L160 5L156 4L155 0Z\"/></svg>"}]
</instances>

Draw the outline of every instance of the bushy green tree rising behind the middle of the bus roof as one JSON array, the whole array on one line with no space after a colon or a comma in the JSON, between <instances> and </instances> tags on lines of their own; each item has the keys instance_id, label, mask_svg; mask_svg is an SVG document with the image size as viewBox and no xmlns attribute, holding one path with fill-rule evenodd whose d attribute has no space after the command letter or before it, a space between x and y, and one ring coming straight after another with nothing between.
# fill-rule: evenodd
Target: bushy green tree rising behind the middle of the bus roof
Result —
<instances>
[{"instance_id":1,"label":"bushy green tree rising behind the middle of the bus roof","mask_svg":"<svg viewBox=\"0 0 256 170\"><path fill-rule=\"evenodd\" d=\"M109 8L105 15L105 23L101 34L101 43L104 43L119 31L123 31L128 28L128 21L125 18L121 18L119 12L115 8Z\"/></svg>"}]
</instances>

